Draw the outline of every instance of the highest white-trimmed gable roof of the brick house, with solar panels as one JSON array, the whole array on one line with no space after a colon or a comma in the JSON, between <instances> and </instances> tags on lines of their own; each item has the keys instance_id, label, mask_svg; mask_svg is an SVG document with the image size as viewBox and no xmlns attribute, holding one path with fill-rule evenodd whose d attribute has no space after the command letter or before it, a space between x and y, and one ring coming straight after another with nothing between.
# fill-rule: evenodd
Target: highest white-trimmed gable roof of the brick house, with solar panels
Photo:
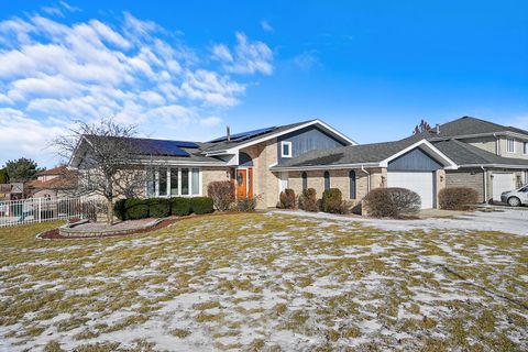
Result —
<instances>
[{"instance_id":1,"label":"highest white-trimmed gable roof of the brick house, with solar panels","mask_svg":"<svg viewBox=\"0 0 528 352\"><path fill-rule=\"evenodd\" d=\"M231 142L228 142L226 138L220 138L212 140L207 143L202 143L202 150L206 154L216 154L216 153L223 153L230 150L242 148L255 143L260 143L266 140L271 140L273 138L279 136L282 134L287 134L289 132L294 132L300 130L306 127L317 125L318 128L324 130L326 132L330 133L334 138L341 140L345 144L358 144L346 135L342 134L338 130L333 129L332 127L328 125L323 121L319 119L307 120L290 124L284 124L279 127L272 127L267 129L260 129L255 131L242 132L233 134L233 136L242 136L242 138L233 138Z\"/></svg>"}]
</instances>

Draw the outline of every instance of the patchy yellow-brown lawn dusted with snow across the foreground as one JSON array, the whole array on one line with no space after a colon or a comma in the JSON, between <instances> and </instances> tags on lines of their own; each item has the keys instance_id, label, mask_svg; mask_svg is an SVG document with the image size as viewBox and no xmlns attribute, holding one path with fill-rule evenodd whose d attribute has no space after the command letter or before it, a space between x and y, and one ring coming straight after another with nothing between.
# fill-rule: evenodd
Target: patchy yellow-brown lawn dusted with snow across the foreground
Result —
<instances>
[{"instance_id":1,"label":"patchy yellow-brown lawn dusted with snow across the foreground","mask_svg":"<svg viewBox=\"0 0 528 352\"><path fill-rule=\"evenodd\" d=\"M286 215L0 230L1 351L521 351L528 238Z\"/></svg>"}]
</instances>

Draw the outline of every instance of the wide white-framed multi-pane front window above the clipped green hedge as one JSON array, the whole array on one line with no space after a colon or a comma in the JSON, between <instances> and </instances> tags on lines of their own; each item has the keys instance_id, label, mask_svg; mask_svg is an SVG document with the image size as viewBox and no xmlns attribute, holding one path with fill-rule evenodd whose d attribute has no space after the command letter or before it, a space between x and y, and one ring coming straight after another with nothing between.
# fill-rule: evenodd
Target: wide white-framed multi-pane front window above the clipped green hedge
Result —
<instances>
[{"instance_id":1,"label":"wide white-framed multi-pane front window above the clipped green hedge","mask_svg":"<svg viewBox=\"0 0 528 352\"><path fill-rule=\"evenodd\" d=\"M201 195L201 169L187 167L157 167L146 170L147 197L178 197Z\"/></svg>"}]
</instances>

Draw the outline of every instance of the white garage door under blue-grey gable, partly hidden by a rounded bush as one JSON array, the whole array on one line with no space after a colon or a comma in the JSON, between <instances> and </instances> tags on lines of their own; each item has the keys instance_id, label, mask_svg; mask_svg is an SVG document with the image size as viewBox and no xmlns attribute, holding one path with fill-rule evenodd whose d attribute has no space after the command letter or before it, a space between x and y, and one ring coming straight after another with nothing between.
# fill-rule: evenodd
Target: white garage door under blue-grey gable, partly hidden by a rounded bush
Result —
<instances>
[{"instance_id":1,"label":"white garage door under blue-grey gable, partly hidden by a rounded bush","mask_svg":"<svg viewBox=\"0 0 528 352\"><path fill-rule=\"evenodd\" d=\"M435 207L435 173L409 172L387 174L387 187L400 187L416 191L421 198L421 209Z\"/></svg>"}]
</instances>

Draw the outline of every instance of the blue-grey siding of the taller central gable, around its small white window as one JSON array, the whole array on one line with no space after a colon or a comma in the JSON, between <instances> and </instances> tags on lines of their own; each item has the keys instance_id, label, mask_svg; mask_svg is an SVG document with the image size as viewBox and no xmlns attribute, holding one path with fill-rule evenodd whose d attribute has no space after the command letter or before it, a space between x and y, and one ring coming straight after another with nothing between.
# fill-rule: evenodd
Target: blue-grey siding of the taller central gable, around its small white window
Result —
<instances>
[{"instance_id":1,"label":"blue-grey siding of the taller central gable, around its small white window","mask_svg":"<svg viewBox=\"0 0 528 352\"><path fill-rule=\"evenodd\" d=\"M331 135L319 130L317 127L308 127L285 135L282 135L277 139L277 161L278 165L282 165L284 161L289 158L280 157L280 142L292 142L292 154L293 157L297 157L305 153L315 151L315 150L329 150L344 144L336 140Z\"/></svg>"}]
</instances>

